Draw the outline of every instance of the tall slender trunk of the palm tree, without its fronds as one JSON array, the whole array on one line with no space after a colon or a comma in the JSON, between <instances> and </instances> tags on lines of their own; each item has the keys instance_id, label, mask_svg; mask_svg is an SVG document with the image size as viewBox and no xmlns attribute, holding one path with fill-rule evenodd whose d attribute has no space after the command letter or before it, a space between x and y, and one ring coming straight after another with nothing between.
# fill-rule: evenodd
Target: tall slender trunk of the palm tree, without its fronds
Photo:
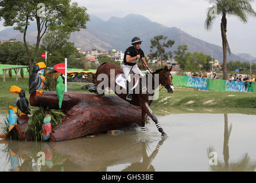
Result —
<instances>
[{"instance_id":1,"label":"tall slender trunk of the palm tree, without its fronds","mask_svg":"<svg viewBox=\"0 0 256 183\"><path fill-rule=\"evenodd\" d=\"M227 79L227 19L226 15L222 16L222 22L220 23L220 29L222 32L222 49L223 49L223 80Z\"/></svg>"}]
</instances>

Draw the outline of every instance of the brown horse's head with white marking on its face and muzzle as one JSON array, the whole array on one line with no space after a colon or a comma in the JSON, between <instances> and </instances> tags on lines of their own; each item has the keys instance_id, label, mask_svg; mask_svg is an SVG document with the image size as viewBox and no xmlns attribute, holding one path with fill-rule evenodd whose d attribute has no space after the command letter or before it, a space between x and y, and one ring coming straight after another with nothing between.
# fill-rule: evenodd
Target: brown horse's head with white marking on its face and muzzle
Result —
<instances>
[{"instance_id":1,"label":"brown horse's head with white marking on its face and muzzle","mask_svg":"<svg viewBox=\"0 0 256 183\"><path fill-rule=\"evenodd\" d=\"M170 71L172 71L172 67L168 69L167 66L164 67L164 70L160 72L159 75L159 81L162 86L164 86L168 93L173 93L174 92L174 86L172 84L172 74L170 74Z\"/></svg>"}]
</instances>

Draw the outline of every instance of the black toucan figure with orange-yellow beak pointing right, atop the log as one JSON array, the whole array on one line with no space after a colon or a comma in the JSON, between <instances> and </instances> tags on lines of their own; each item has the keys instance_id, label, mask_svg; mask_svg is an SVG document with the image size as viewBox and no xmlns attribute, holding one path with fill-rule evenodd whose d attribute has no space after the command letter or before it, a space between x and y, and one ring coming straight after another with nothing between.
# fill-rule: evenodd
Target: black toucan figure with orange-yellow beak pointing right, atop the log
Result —
<instances>
[{"instance_id":1,"label":"black toucan figure with orange-yellow beak pointing right, atop the log","mask_svg":"<svg viewBox=\"0 0 256 183\"><path fill-rule=\"evenodd\" d=\"M29 77L29 94L32 94L36 92L36 90L40 87L42 84L42 79L40 75L37 74L37 72L41 69L45 69L46 65L44 62L39 62L37 63L33 69L32 69L32 74ZM37 93L37 95L41 95L41 93Z\"/></svg>"}]
</instances>

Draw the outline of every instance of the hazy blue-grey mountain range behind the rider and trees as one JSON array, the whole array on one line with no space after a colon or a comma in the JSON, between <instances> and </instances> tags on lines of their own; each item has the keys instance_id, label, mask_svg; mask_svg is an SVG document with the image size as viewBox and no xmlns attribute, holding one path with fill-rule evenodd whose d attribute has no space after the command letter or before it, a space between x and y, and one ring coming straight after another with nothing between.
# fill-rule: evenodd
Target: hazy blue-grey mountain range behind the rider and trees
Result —
<instances>
[{"instance_id":1,"label":"hazy blue-grey mountain range behind the rider and trees","mask_svg":"<svg viewBox=\"0 0 256 183\"><path fill-rule=\"evenodd\" d=\"M174 39L175 43L170 50L176 50L179 45L188 45L188 51L203 52L218 59L223 60L222 47L202 41L201 39L192 37L188 33L178 29L177 27L166 27L160 23L152 22L148 18L138 14L129 14L126 17L118 18L111 17L108 21L91 15L91 21L87 23L87 29L71 34L70 41L75 43L76 47L83 50L121 50L125 51L127 47L131 46L131 38L139 37L142 39L141 48L148 54L150 53L150 39L156 35L165 35L168 39ZM30 43L36 42L36 26L35 23L29 27L27 40ZM17 38L22 41L21 33L7 28L0 31L0 40L7 40L10 38ZM244 55L231 54L227 55L227 60L240 60L242 62L248 61Z\"/></svg>"}]
</instances>

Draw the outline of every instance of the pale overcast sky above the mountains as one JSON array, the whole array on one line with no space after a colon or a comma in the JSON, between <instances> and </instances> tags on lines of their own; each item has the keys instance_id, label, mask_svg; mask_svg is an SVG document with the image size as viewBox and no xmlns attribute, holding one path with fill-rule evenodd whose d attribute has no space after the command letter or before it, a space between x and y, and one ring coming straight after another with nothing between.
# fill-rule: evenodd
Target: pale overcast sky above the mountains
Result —
<instances>
[{"instance_id":1,"label":"pale overcast sky above the mountains","mask_svg":"<svg viewBox=\"0 0 256 183\"><path fill-rule=\"evenodd\" d=\"M220 19L217 17L210 31L205 30L204 21L207 8L205 0L75 0L79 6L87 8L87 13L103 21L110 17L125 17L140 14L152 22L167 27L177 27L193 37L222 46ZM256 2L251 4L256 11ZM0 30L5 29L0 22ZM124 22L125 23L125 22ZM135 22L134 22L135 23ZM227 17L227 38L232 53L249 53L256 57L256 18L249 18L244 24L236 17Z\"/></svg>"}]
</instances>

